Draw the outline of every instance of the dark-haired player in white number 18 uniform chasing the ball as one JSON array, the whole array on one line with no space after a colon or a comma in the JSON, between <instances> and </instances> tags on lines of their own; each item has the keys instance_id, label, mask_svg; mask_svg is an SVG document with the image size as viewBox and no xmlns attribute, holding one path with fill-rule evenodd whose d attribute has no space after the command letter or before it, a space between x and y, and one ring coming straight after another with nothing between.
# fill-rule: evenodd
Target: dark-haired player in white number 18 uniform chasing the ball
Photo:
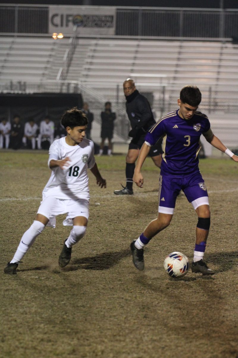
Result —
<instances>
[{"instance_id":1,"label":"dark-haired player in white number 18 uniform chasing the ball","mask_svg":"<svg viewBox=\"0 0 238 358\"><path fill-rule=\"evenodd\" d=\"M48 165L50 179L42 192L42 202L36 219L23 234L13 259L4 269L6 274L16 274L22 257L33 245L45 226L55 227L56 216L67 213L64 226L73 226L59 256L59 266L66 266L71 259L72 246L84 235L88 222L89 188L87 168L95 175L97 184L106 188L94 158L93 142L85 138L87 117L72 108L61 119L66 137L50 146Z\"/></svg>"}]
</instances>

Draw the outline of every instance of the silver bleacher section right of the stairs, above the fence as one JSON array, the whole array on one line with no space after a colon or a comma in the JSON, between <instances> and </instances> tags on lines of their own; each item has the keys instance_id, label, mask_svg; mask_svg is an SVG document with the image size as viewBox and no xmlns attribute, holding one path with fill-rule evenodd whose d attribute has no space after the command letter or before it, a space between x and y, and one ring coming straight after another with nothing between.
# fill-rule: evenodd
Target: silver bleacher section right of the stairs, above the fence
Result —
<instances>
[{"instance_id":1,"label":"silver bleacher section right of the stairs, above the fence","mask_svg":"<svg viewBox=\"0 0 238 358\"><path fill-rule=\"evenodd\" d=\"M230 43L98 39L91 40L83 70L74 78L94 88L102 87L100 81L122 84L129 76L152 87L227 86L236 85L237 69L238 50Z\"/></svg>"}]
</instances>

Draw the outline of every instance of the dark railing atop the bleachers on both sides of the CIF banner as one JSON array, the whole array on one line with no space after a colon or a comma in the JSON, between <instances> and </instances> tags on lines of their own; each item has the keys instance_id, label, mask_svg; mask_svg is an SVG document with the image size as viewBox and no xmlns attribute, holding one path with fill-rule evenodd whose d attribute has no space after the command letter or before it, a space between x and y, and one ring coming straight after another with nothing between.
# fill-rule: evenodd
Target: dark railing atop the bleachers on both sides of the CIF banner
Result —
<instances>
[{"instance_id":1,"label":"dark railing atop the bleachers on both sides of the CIF banner","mask_svg":"<svg viewBox=\"0 0 238 358\"><path fill-rule=\"evenodd\" d=\"M49 8L40 5L0 5L0 33L48 34ZM234 38L237 34L238 10L138 7L116 9L115 35L118 37L221 39Z\"/></svg>"}]
</instances>

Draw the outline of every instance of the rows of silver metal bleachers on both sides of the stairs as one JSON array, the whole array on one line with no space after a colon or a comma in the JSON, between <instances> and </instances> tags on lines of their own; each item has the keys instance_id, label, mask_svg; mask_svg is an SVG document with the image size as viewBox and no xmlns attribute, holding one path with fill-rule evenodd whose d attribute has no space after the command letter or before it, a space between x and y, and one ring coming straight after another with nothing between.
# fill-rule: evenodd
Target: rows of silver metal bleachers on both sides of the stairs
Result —
<instances>
[{"instance_id":1,"label":"rows of silver metal bleachers on both sides of the stairs","mask_svg":"<svg viewBox=\"0 0 238 358\"><path fill-rule=\"evenodd\" d=\"M6 36L0 38L0 43L1 82L55 81L69 49L68 38ZM199 86L203 94L201 110L205 113L209 110L209 118L216 121L221 134L229 140L221 118L229 115L233 121L238 108L236 45L217 41L78 40L67 81L78 81L79 87L81 84L87 89L83 95L92 111L100 113L103 100L124 108L122 83L128 77L135 80L139 91L153 94L157 116L174 109L182 86ZM214 117L217 109L221 116L216 112L216 118L220 119ZM237 138L236 125L232 122L233 137L234 132ZM235 146L236 140L230 142Z\"/></svg>"}]
</instances>

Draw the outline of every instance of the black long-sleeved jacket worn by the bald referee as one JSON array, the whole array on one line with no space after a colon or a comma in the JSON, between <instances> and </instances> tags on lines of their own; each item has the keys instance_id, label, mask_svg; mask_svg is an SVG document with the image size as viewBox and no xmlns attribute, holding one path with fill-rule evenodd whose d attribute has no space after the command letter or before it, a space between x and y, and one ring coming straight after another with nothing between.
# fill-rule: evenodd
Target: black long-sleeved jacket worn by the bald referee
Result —
<instances>
[{"instance_id":1,"label":"black long-sleeved jacket worn by the bald referee","mask_svg":"<svg viewBox=\"0 0 238 358\"><path fill-rule=\"evenodd\" d=\"M138 133L147 132L155 123L150 103L136 89L131 95L126 96L126 113L131 122L132 137Z\"/></svg>"}]
</instances>

